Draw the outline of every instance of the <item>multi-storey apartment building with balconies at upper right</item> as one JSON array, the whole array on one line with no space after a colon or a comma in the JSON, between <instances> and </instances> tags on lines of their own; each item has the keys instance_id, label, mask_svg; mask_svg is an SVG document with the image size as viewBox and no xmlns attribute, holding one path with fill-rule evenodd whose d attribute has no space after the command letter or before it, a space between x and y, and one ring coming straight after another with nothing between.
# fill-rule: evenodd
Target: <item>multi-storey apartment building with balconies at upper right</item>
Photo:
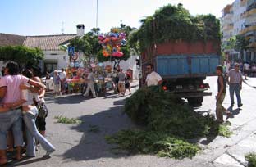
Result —
<instances>
[{"instance_id":1,"label":"multi-storey apartment building with balconies at upper right","mask_svg":"<svg viewBox=\"0 0 256 167\"><path fill-rule=\"evenodd\" d=\"M225 47L224 52L232 61L256 61L256 0L235 0L222 10L221 18L222 45L228 46L229 40L242 35L249 40L248 49L243 55L232 47Z\"/></svg>"}]
</instances>

